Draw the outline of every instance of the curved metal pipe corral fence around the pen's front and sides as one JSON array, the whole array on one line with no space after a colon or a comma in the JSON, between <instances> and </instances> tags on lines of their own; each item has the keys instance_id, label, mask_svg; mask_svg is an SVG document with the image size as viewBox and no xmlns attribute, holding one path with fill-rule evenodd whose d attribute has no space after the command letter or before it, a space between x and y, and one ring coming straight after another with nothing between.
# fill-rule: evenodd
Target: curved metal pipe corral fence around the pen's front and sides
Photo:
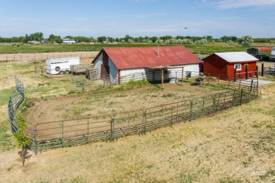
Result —
<instances>
[{"instance_id":1,"label":"curved metal pipe corral fence around the pen's front and sides","mask_svg":"<svg viewBox=\"0 0 275 183\"><path fill-rule=\"evenodd\" d=\"M143 111L128 111L112 115L93 116L54 122L39 122L33 125L27 121L25 132L31 141L30 148L39 150L63 146L88 144L95 141L114 141L129 134L146 134L159 127L172 126L217 111L240 106L258 96L257 78L250 80L219 80L215 77L203 77L199 84L225 88L224 92L188 99L176 103L146 108ZM23 83L16 78L16 91L8 101L8 114L11 131L16 126L16 110L25 97Z\"/></svg>"}]
</instances>

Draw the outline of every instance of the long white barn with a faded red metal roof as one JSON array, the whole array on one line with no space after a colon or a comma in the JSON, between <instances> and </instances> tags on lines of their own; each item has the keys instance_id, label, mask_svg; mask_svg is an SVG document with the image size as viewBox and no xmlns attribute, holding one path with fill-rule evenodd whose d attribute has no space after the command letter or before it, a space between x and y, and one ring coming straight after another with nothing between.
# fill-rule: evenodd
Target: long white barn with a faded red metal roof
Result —
<instances>
[{"instance_id":1,"label":"long white barn with a faded red metal roof","mask_svg":"<svg viewBox=\"0 0 275 183\"><path fill-rule=\"evenodd\" d=\"M200 75L202 63L184 46L104 47L92 61L98 76L116 84L129 80L176 79ZM184 72L183 72L184 70Z\"/></svg>"}]
</instances>

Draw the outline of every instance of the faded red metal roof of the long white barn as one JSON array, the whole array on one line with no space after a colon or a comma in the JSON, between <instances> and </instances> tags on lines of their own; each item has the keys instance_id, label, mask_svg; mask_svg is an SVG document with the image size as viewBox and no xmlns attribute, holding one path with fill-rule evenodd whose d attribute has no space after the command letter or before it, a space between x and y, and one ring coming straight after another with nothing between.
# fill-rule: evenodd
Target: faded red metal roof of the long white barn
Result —
<instances>
[{"instance_id":1,"label":"faded red metal roof of the long white barn","mask_svg":"<svg viewBox=\"0 0 275 183\"><path fill-rule=\"evenodd\" d=\"M107 53L118 69L186 65L202 62L184 46L160 46L159 48L157 46L104 47L102 51ZM94 58L94 61L102 51Z\"/></svg>"}]
</instances>

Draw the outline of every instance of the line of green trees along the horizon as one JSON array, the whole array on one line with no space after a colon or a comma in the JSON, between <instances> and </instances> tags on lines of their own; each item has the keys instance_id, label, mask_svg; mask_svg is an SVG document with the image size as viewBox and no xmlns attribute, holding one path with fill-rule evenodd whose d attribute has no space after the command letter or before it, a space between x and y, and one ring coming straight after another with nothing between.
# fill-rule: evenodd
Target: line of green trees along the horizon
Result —
<instances>
[{"instance_id":1,"label":"line of green trees along the horizon","mask_svg":"<svg viewBox=\"0 0 275 183\"><path fill-rule=\"evenodd\" d=\"M25 34L22 37L0 37L0 42L4 43L27 43L29 41L37 41L37 42L45 42L49 44L61 44L63 39L74 39L75 42L85 42L85 43L102 43L102 42L111 42L111 43L156 43L156 44L206 44L206 43L215 43L215 42L226 42L228 44L251 44L252 42L257 43L275 43L275 38L252 38L249 35L243 37L235 37L235 36L223 36L220 38L213 38L212 36L204 36L204 37L190 37L190 36L176 36L172 37L170 35L162 36L162 37L131 37L130 35L126 35L125 37L73 37L66 36L61 38L60 36L56 36L54 34L50 34L49 37L44 38L44 34L42 32L35 32L33 34ZM246 39L245 41L243 41ZM250 39L247 41L247 39ZM249 46L249 45L248 45Z\"/></svg>"}]
</instances>

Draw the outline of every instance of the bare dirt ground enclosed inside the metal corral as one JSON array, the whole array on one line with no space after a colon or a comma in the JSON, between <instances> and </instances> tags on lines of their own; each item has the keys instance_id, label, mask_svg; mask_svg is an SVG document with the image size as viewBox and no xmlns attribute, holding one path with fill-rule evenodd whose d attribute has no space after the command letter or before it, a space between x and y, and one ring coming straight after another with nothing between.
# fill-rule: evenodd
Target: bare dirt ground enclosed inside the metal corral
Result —
<instances>
[{"instance_id":1,"label":"bare dirt ground enclosed inside the metal corral","mask_svg":"<svg viewBox=\"0 0 275 183\"><path fill-rule=\"evenodd\" d=\"M137 111L153 106L193 99L214 91L190 84L169 84L161 89L150 85L133 89L99 89L67 96L51 96L43 99L28 99L31 106L25 116L32 122L46 122L89 116L110 115L126 111Z\"/></svg>"}]
</instances>

